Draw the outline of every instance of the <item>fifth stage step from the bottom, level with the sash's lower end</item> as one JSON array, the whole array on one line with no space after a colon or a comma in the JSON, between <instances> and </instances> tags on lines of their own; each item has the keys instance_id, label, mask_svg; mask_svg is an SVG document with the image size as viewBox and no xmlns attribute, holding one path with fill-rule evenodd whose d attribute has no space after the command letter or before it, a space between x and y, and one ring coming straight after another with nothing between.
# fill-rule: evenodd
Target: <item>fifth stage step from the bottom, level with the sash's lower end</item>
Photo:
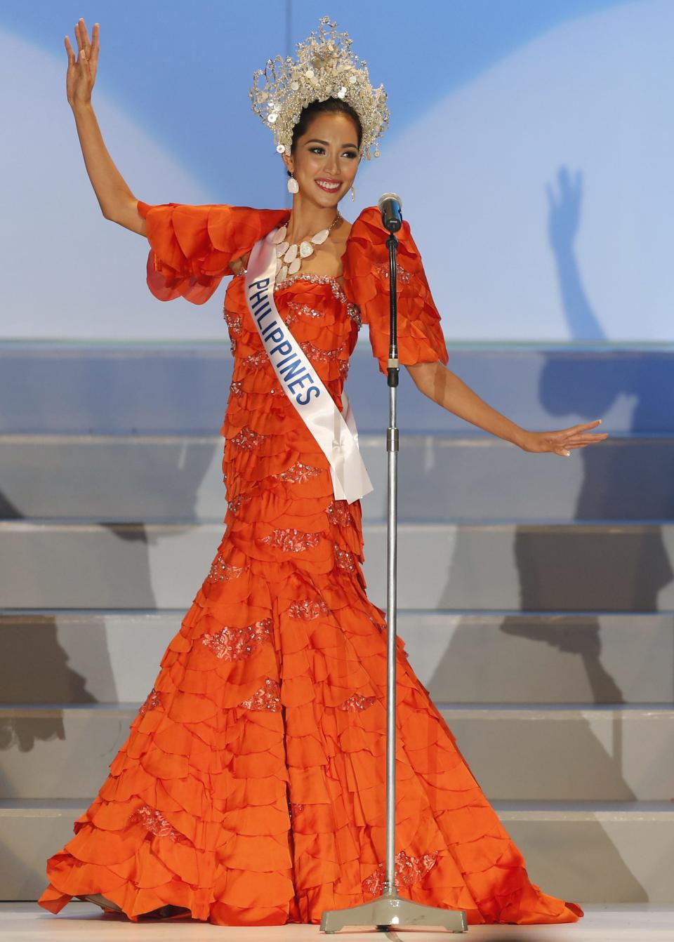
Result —
<instances>
[{"instance_id":1,"label":"fifth stage step from the bottom, level with the sash's lower end","mask_svg":"<svg viewBox=\"0 0 674 942\"><path fill-rule=\"evenodd\" d=\"M386 519L383 435L360 445ZM0 435L0 516L106 522L222 522L220 436ZM674 438L609 438L570 459L487 435L403 434L401 519L660 520L674 516Z\"/></svg>"}]
</instances>

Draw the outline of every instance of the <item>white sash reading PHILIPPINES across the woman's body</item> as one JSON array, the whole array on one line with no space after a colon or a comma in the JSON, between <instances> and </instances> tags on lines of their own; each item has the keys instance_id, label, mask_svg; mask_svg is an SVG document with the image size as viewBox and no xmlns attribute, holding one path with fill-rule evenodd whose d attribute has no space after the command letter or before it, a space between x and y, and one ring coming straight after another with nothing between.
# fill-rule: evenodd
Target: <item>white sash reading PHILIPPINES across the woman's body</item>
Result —
<instances>
[{"instance_id":1,"label":"white sash reading PHILIPPINES across the woman's body","mask_svg":"<svg viewBox=\"0 0 674 942\"><path fill-rule=\"evenodd\" d=\"M246 272L246 301L273 371L306 428L330 463L337 500L354 500L370 494L372 485L358 449L358 431L346 393L345 416L337 409L304 350L288 330L276 309L273 288L276 252L273 229L255 243Z\"/></svg>"}]
</instances>

